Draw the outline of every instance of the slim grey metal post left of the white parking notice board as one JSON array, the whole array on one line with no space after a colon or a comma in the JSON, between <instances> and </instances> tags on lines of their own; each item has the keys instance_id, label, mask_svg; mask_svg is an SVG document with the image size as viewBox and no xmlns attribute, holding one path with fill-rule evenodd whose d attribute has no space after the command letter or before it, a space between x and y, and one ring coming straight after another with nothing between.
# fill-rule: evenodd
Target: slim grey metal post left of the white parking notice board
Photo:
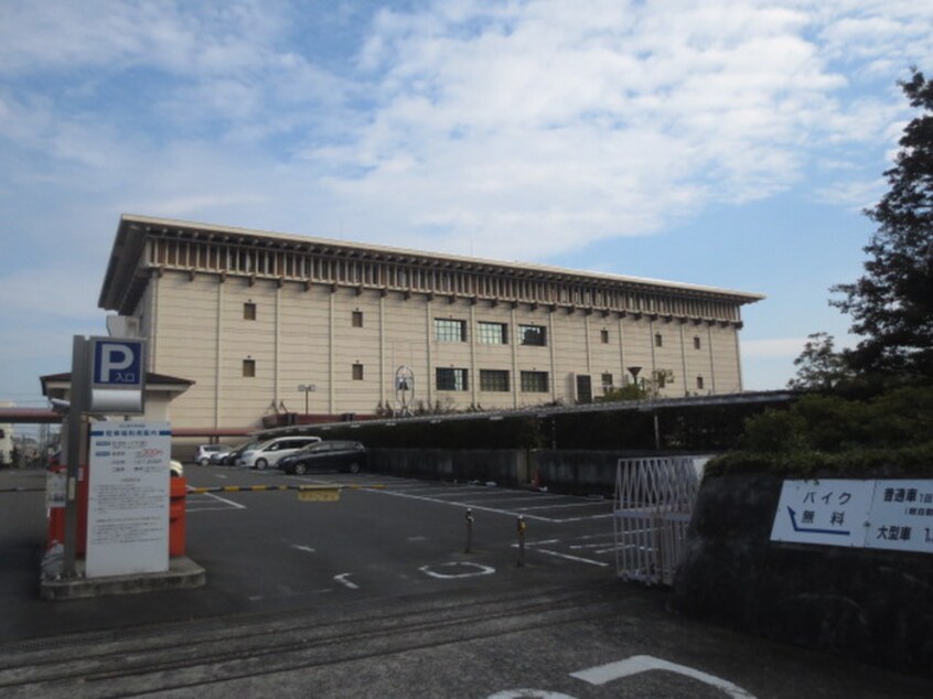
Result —
<instances>
[{"instance_id":1,"label":"slim grey metal post left of the white parking notice board","mask_svg":"<svg viewBox=\"0 0 933 699\"><path fill-rule=\"evenodd\" d=\"M75 335L72 342L72 394L68 406L67 487L65 491L65 540L63 545L62 577L77 577L78 536L78 477L84 451L84 413L88 401L88 341Z\"/></svg>"}]
</instances>

